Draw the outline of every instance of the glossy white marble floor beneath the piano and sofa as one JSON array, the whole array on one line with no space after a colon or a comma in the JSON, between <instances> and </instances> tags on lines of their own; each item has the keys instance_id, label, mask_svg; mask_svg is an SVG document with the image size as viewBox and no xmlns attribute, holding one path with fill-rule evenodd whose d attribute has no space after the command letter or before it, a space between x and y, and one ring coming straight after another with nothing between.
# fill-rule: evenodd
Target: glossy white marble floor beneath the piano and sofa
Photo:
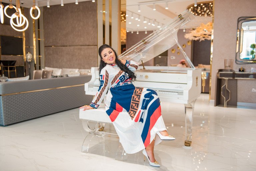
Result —
<instances>
[{"instance_id":1,"label":"glossy white marble floor beneath the piano and sofa","mask_svg":"<svg viewBox=\"0 0 256 171\"><path fill-rule=\"evenodd\" d=\"M184 106L162 103L168 132L177 139L155 147L160 168L143 161L118 161L81 153L87 133L72 109L0 127L1 171L255 171L256 110L209 105L208 94L195 104L192 149L184 149ZM116 138L108 142L115 144ZM137 163L136 163L137 162Z\"/></svg>"}]
</instances>

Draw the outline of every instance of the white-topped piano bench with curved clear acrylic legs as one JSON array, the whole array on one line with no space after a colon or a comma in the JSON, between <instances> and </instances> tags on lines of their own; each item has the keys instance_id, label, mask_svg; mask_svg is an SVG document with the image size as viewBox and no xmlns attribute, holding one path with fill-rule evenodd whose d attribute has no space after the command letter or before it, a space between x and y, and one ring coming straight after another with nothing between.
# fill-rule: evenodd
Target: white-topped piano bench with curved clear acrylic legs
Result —
<instances>
[{"instance_id":1,"label":"white-topped piano bench with curved clear acrylic legs","mask_svg":"<svg viewBox=\"0 0 256 171\"><path fill-rule=\"evenodd\" d=\"M123 146L119 143L119 139L118 141L116 140L119 137L115 129L111 128L112 122L106 113L105 107L85 111L80 109L79 119L82 121L84 130L89 133L82 144L83 153L92 153L115 158L116 160L124 160L126 156L124 156ZM105 124L110 124L110 127L104 130ZM115 139L111 137L115 137ZM112 150L106 153L105 149L110 148Z\"/></svg>"}]
</instances>

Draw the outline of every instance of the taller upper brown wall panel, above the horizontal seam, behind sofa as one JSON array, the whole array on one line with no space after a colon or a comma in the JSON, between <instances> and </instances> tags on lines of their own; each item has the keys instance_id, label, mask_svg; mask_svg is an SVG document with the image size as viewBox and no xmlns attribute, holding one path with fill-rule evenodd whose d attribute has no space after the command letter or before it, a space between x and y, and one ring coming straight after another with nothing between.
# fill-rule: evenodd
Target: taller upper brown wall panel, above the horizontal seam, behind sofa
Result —
<instances>
[{"instance_id":1,"label":"taller upper brown wall panel, above the horizontal seam, behind sofa","mask_svg":"<svg viewBox=\"0 0 256 171\"><path fill-rule=\"evenodd\" d=\"M44 7L45 46L97 45L97 4Z\"/></svg>"}]
</instances>

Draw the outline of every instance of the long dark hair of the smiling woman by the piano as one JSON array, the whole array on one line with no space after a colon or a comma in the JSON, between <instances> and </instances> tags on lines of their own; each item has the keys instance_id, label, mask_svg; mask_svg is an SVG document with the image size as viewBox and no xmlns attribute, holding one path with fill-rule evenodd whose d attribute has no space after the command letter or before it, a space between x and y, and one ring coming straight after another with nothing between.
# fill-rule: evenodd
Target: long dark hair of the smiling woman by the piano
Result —
<instances>
[{"instance_id":1,"label":"long dark hair of the smiling woman by the piano","mask_svg":"<svg viewBox=\"0 0 256 171\"><path fill-rule=\"evenodd\" d=\"M118 56L116 54L116 51L109 45L107 44L104 44L104 45L101 45L99 47L99 55L100 55L100 72L101 70L107 65L107 63L105 63L103 60L102 60L102 56L101 56L101 52L106 49L106 48L110 48L113 50L113 52L115 53L115 56L116 56L116 65L124 72L128 73L129 77L132 78L132 80L135 80L136 79L136 76L134 74L134 72L132 72L131 70L129 70L119 59L118 59Z\"/></svg>"}]
</instances>

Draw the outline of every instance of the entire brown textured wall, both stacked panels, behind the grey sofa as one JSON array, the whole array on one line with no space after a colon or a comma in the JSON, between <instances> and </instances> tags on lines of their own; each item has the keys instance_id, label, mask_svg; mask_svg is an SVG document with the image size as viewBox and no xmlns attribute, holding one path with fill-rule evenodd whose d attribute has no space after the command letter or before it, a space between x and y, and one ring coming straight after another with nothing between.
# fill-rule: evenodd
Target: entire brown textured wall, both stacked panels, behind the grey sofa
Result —
<instances>
[{"instance_id":1,"label":"entire brown textured wall, both stacked panels, behind the grey sofa","mask_svg":"<svg viewBox=\"0 0 256 171\"><path fill-rule=\"evenodd\" d=\"M45 66L97 66L97 4L91 1L44 7Z\"/></svg>"}]
</instances>

